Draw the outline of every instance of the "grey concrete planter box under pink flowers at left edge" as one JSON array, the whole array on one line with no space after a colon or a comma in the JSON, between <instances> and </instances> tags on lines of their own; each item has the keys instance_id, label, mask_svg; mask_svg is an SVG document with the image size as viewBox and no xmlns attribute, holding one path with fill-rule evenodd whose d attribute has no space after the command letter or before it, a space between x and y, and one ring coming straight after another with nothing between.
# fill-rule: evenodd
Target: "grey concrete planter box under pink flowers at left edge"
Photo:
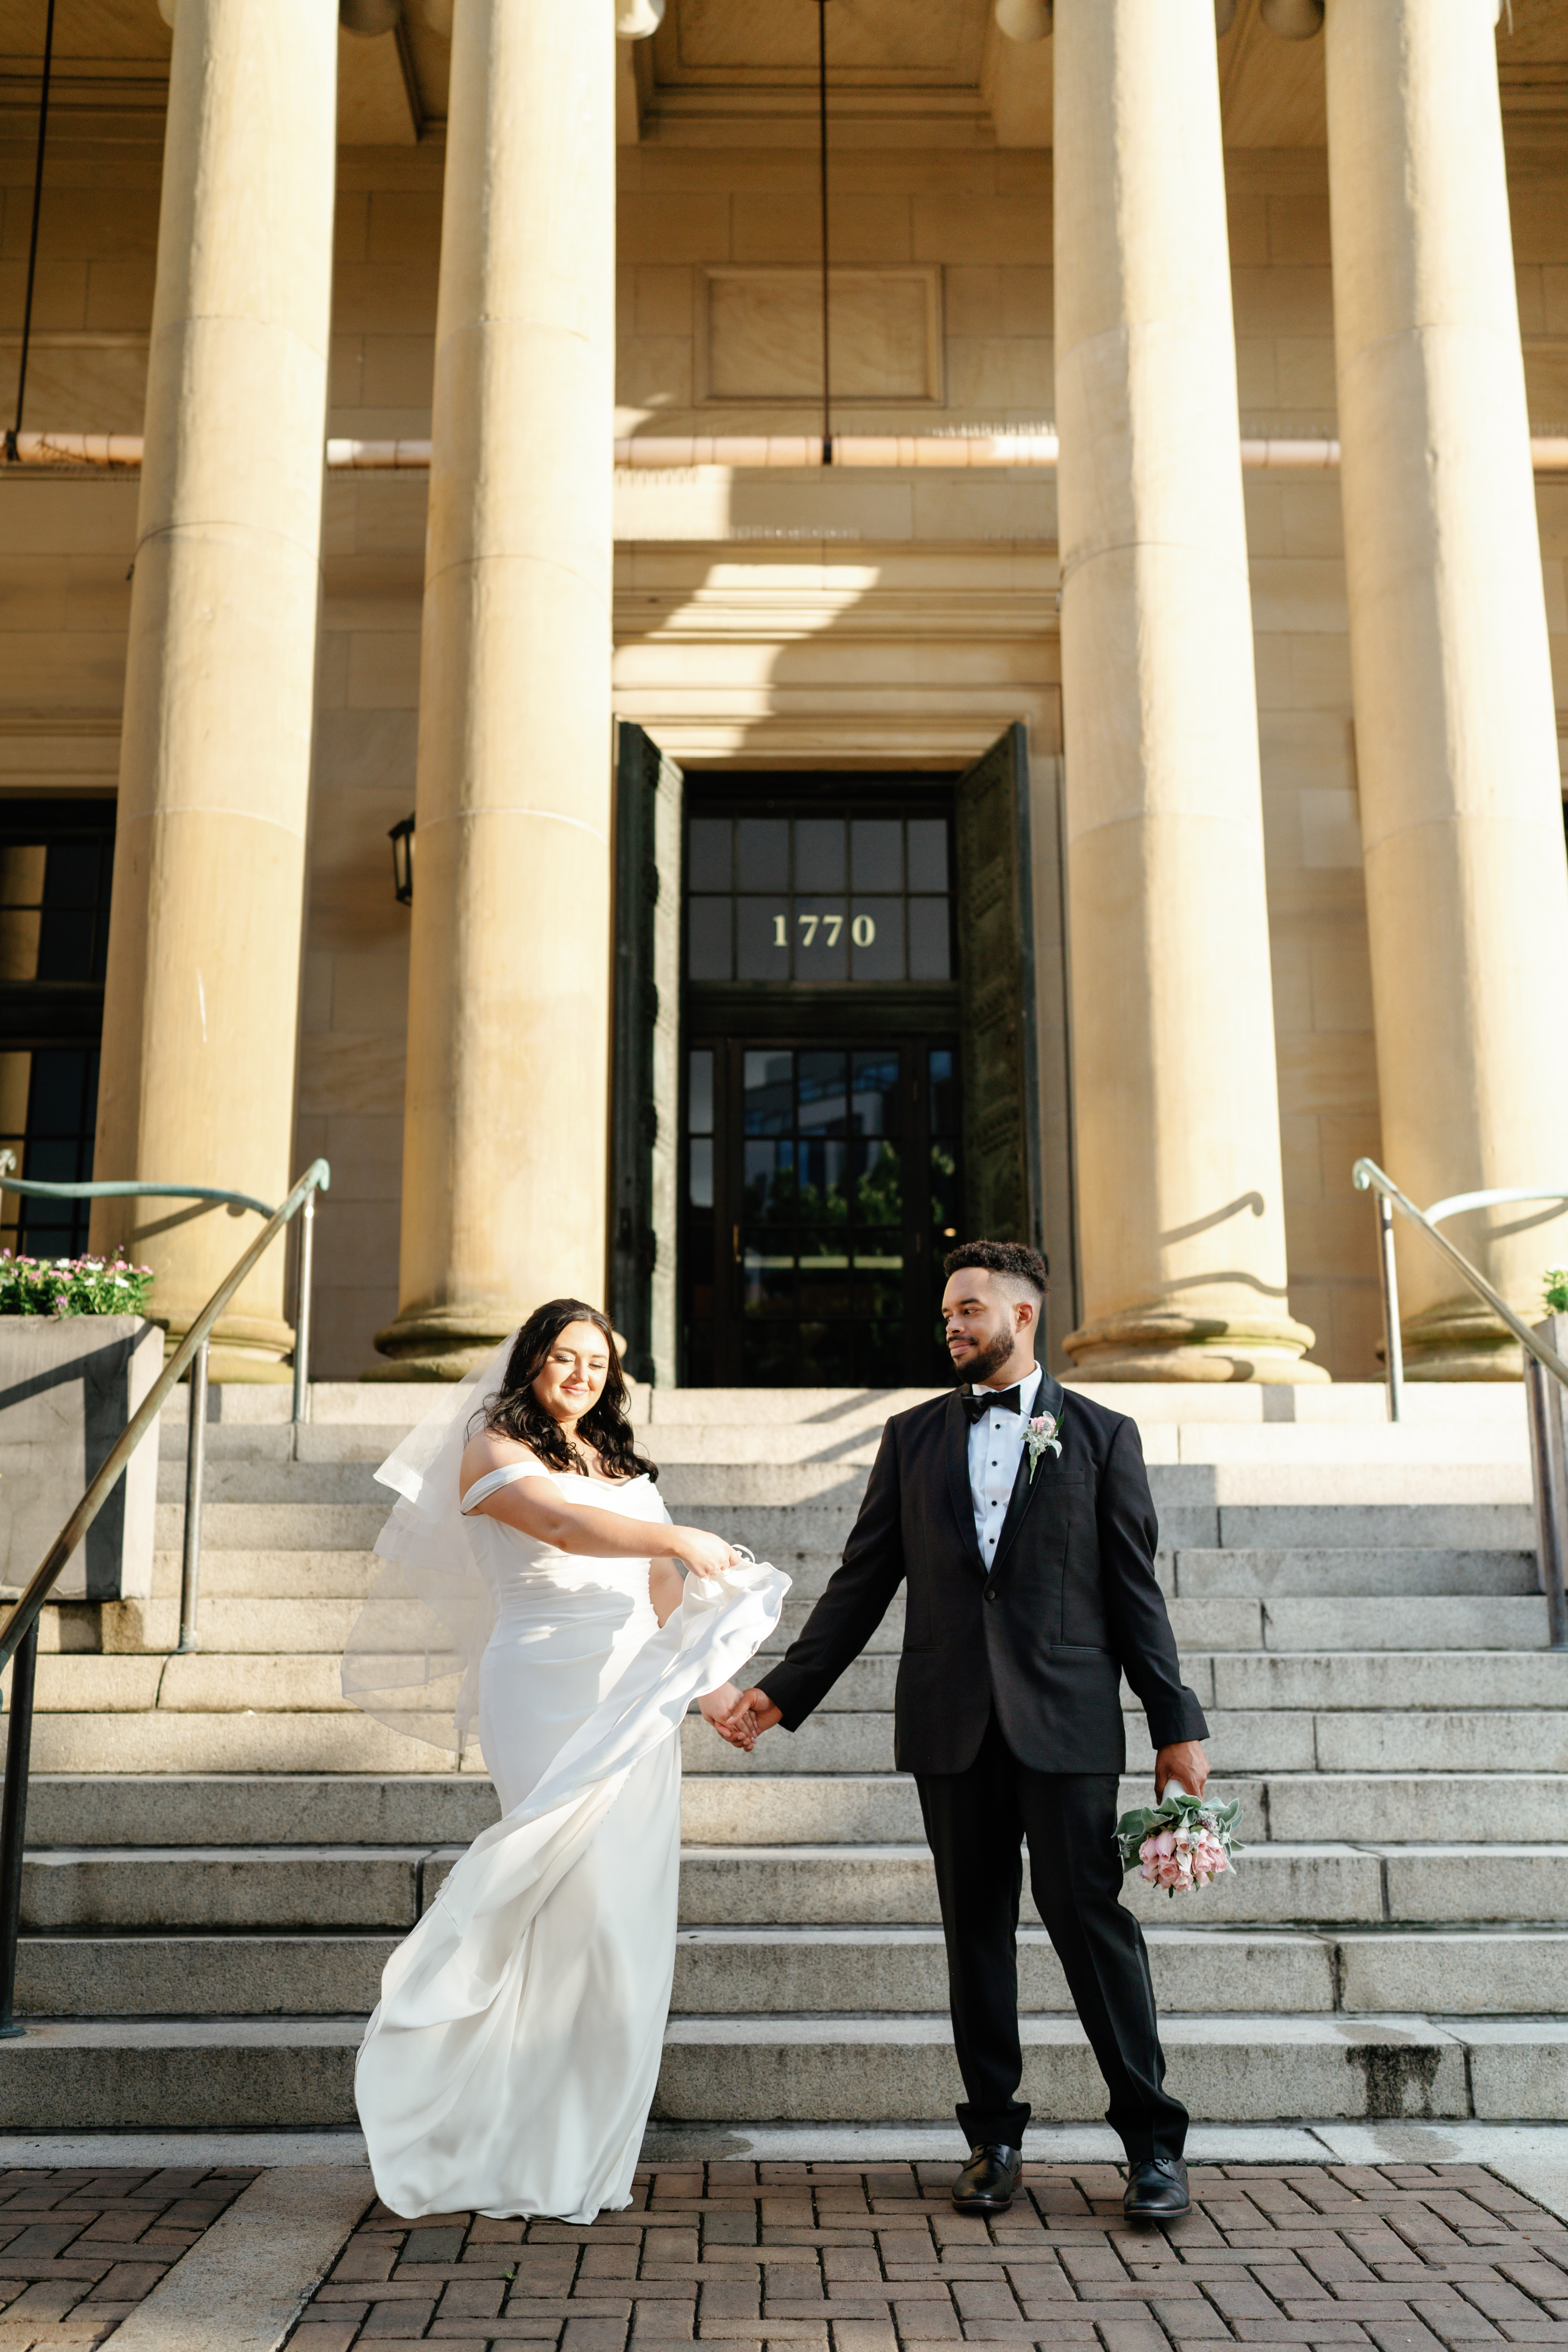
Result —
<instances>
[{"instance_id":1,"label":"grey concrete planter box under pink flowers at left edge","mask_svg":"<svg viewBox=\"0 0 1568 2352\"><path fill-rule=\"evenodd\" d=\"M141 1315L0 1315L0 1583L19 1590L162 1369L162 1329ZM148 1599L158 1435L66 1562L73 1602Z\"/></svg>"}]
</instances>

